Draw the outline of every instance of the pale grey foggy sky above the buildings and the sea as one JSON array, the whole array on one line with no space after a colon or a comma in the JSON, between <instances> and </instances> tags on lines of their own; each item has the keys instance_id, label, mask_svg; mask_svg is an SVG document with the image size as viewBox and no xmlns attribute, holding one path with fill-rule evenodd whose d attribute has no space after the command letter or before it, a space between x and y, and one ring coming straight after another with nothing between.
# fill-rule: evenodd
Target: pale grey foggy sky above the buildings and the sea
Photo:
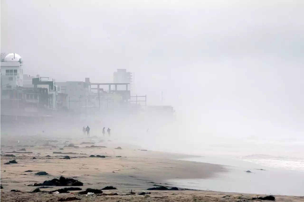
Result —
<instances>
[{"instance_id":1,"label":"pale grey foggy sky above the buildings and the sea","mask_svg":"<svg viewBox=\"0 0 304 202\"><path fill-rule=\"evenodd\" d=\"M57 81L126 68L194 127L304 128L303 0L0 0L0 52Z\"/></svg>"}]
</instances>

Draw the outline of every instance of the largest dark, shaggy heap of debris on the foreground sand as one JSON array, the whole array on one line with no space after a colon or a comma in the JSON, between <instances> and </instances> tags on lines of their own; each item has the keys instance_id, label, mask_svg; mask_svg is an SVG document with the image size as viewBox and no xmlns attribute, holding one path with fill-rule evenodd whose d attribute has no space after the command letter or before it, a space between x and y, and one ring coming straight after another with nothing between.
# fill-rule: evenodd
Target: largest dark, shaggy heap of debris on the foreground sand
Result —
<instances>
[{"instance_id":1,"label":"largest dark, shaggy heap of debris on the foreground sand","mask_svg":"<svg viewBox=\"0 0 304 202\"><path fill-rule=\"evenodd\" d=\"M34 183L34 187L40 187L40 186L83 186L83 183L79 180L75 180L73 178L65 178L63 176L60 176L59 179L54 178L52 180L46 180L43 183Z\"/></svg>"}]
</instances>

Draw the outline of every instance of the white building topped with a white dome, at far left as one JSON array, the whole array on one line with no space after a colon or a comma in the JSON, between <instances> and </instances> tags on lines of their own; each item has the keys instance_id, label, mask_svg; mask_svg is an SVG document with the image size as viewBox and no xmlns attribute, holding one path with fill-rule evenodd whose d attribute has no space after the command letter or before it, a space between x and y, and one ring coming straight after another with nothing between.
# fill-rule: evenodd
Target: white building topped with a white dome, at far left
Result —
<instances>
[{"instance_id":1,"label":"white building topped with a white dome, at far left","mask_svg":"<svg viewBox=\"0 0 304 202\"><path fill-rule=\"evenodd\" d=\"M3 56L2 56L3 58ZM2 89L23 86L23 61L17 53L9 53L0 60L0 76Z\"/></svg>"}]
</instances>

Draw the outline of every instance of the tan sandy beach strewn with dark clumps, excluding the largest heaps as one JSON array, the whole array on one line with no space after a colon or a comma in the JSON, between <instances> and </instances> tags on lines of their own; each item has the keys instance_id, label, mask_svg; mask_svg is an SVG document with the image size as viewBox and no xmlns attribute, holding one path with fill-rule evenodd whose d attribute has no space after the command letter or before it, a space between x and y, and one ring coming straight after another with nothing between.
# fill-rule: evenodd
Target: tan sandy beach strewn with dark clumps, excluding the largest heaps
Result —
<instances>
[{"instance_id":1,"label":"tan sandy beach strewn with dark clumps, excluding the largest heaps","mask_svg":"<svg viewBox=\"0 0 304 202\"><path fill-rule=\"evenodd\" d=\"M17 145L18 139L20 145ZM151 191L148 196L130 195L131 190L139 193L154 184L161 185L168 179L212 178L220 172L227 172L224 167L209 163L174 160L189 155L142 151L137 146L117 145L112 142L99 142L100 139L51 139L32 136L14 139L1 138L0 148L0 201L57 201L59 198L77 197L78 201L247 201L254 195L227 194L210 191ZM95 142L81 144L81 142ZM64 147L73 143L79 147ZM86 146L106 146L106 148L91 148ZM114 149L121 146L122 149ZM20 149L26 151L18 151ZM63 150L60 150L63 148ZM8 153L33 152L33 153ZM76 154L53 154L53 152ZM4 157L14 154L16 157ZM47 157L49 155L50 157ZM90 157L90 155L104 155L105 158ZM69 156L71 159L62 159ZM121 157L118 157L121 156ZM36 159L33 159L36 157ZM17 164L4 165L9 160L16 159ZM33 170L33 172L25 172ZM45 171L47 176L36 176L34 173ZM117 187L114 190L118 196L84 196L77 194L44 194L28 193L36 187L27 186L35 182L58 178L60 175L78 179L84 183L82 189L103 188L108 185ZM166 185L169 186L170 185ZM62 187L43 189L46 191ZM20 190L15 193L10 190ZM112 191L105 191L111 193ZM227 197L223 197L229 195ZM304 201L303 197L276 197L277 201Z\"/></svg>"}]
</instances>

